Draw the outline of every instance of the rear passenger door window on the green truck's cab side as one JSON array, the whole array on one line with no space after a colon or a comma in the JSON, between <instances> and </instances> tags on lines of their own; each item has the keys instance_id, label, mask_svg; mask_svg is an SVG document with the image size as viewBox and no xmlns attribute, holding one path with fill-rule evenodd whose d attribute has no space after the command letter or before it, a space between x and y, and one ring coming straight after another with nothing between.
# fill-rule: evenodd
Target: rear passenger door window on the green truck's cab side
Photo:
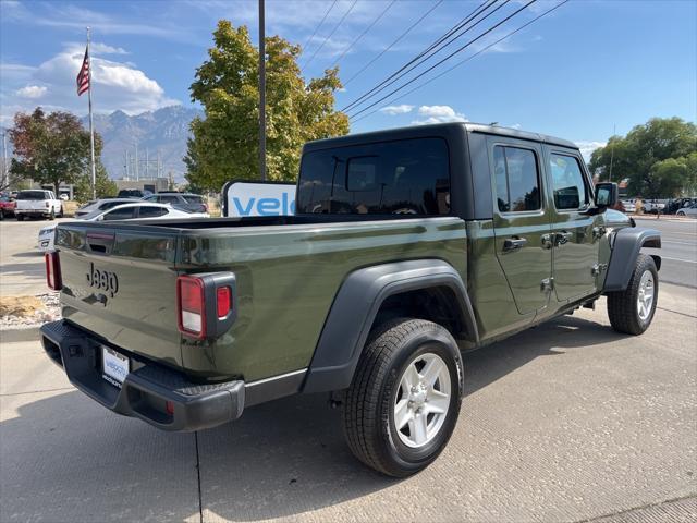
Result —
<instances>
[{"instance_id":1,"label":"rear passenger door window on the green truck's cab side","mask_svg":"<svg viewBox=\"0 0 697 523\"><path fill-rule=\"evenodd\" d=\"M497 145L493 148L493 174L501 212L541 208L540 177L534 151Z\"/></svg>"}]
</instances>

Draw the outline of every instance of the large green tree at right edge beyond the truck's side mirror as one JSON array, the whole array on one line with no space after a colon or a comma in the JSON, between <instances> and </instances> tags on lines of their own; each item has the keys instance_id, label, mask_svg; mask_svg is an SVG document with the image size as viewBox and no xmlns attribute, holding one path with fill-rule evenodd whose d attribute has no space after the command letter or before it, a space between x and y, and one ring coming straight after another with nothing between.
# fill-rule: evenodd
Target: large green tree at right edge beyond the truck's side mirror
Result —
<instances>
[{"instance_id":1,"label":"large green tree at right edge beyond the truck's side mirror","mask_svg":"<svg viewBox=\"0 0 697 523\"><path fill-rule=\"evenodd\" d=\"M675 196L688 190L687 158L695 151L697 126L694 123L680 118L653 118L635 126L625 137L612 136L604 147L594 151L589 168L594 175L606 181L612 165L612 181L628 179L632 195Z\"/></svg>"}]
</instances>

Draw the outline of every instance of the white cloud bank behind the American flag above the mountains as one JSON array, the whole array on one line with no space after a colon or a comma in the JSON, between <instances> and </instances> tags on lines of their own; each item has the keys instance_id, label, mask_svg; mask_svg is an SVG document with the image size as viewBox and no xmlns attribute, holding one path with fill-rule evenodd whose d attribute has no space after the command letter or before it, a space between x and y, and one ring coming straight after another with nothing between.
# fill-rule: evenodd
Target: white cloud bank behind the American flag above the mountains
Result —
<instances>
[{"instance_id":1,"label":"white cloud bank behind the American flag above the mountains","mask_svg":"<svg viewBox=\"0 0 697 523\"><path fill-rule=\"evenodd\" d=\"M112 112L121 109L129 114L156 110L179 104L167 97L156 80L135 65L107 60L98 53L126 54L120 48L95 42L93 48L93 102L95 112ZM3 64L3 83L0 90L2 121L16 111L32 111L40 97L47 110L68 110L77 114L87 112L86 95L77 96L75 77L83 62L84 47L66 44L65 49L37 68ZM15 73L10 77L5 70Z\"/></svg>"}]
</instances>

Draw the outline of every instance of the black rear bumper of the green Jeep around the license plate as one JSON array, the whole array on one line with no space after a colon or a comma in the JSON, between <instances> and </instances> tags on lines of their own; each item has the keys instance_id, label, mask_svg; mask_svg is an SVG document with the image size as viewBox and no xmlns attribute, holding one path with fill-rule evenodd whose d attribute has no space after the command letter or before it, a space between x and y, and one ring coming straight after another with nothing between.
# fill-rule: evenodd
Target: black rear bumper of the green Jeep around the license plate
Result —
<instances>
[{"instance_id":1,"label":"black rear bumper of the green Jeep around the license plate","mask_svg":"<svg viewBox=\"0 0 697 523\"><path fill-rule=\"evenodd\" d=\"M199 430L242 415L242 380L198 385L163 365L129 355L131 372L119 389L102 377L103 343L87 332L64 320L52 321L41 327L41 342L81 391L113 412L139 417L160 429Z\"/></svg>"}]
</instances>

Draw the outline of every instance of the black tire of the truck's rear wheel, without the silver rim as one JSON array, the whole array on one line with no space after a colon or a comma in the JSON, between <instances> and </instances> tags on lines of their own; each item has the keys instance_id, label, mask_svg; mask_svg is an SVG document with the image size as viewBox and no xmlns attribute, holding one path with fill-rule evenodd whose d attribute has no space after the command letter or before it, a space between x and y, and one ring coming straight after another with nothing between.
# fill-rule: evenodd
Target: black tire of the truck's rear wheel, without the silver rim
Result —
<instances>
[{"instance_id":1,"label":"black tire of the truck's rear wheel, without the silver rim","mask_svg":"<svg viewBox=\"0 0 697 523\"><path fill-rule=\"evenodd\" d=\"M448 410L432 439L412 448L396 433L394 405L402 393L400 381L406 368L419 356L432 354L445 364L450 377ZM427 467L441 453L457 423L462 373L457 344L440 325L401 318L375 329L344 398L343 429L351 451L366 465L389 476L406 477ZM428 424L432 418L426 412L420 415Z\"/></svg>"}]
</instances>

